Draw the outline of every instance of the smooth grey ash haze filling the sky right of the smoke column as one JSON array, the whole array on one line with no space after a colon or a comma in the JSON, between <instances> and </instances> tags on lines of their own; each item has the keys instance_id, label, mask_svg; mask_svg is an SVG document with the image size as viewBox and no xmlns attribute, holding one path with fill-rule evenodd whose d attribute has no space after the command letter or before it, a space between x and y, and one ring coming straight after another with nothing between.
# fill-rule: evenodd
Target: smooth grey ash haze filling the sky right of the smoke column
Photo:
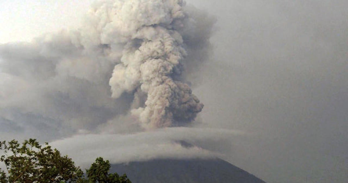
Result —
<instances>
[{"instance_id":1,"label":"smooth grey ash haze filling the sky right of the smoke column","mask_svg":"<svg viewBox=\"0 0 348 183\"><path fill-rule=\"evenodd\" d=\"M220 27L211 39L216 62L196 90L201 117L255 134L224 150L235 153L230 162L266 182L345 182L348 3L197 5Z\"/></svg>"}]
</instances>

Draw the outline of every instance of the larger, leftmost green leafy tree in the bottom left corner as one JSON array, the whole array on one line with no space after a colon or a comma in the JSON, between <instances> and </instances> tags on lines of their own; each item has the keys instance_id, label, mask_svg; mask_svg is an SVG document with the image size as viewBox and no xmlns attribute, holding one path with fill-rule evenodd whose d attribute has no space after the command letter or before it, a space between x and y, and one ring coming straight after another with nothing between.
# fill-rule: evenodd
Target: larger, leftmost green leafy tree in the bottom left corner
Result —
<instances>
[{"instance_id":1,"label":"larger, leftmost green leafy tree in the bottom left corner","mask_svg":"<svg viewBox=\"0 0 348 183\"><path fill-rule=\"evenodd\" d=\"M8 171L4 180L20 183L59 183L76 181L83 175L70 158L61 156L57 149L52 150L48 143L45 145L42 147L35 139L25 140L22 145L17 140L0 142L0 150L5 152L0 160L5 162ZM3 171L1 176L6 176Z\"/></svg>"}]
</instances>

